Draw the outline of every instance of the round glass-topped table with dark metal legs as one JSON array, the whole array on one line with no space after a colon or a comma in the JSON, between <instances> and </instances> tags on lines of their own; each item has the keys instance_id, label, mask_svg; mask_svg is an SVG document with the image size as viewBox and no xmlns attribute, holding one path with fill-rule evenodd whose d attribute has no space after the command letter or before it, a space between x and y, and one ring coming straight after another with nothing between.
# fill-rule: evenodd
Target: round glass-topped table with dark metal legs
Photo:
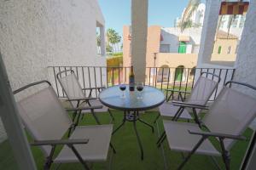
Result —
<instances>
[{"instance_id":1,"label":"round glass-topped table with dark metal legs","mask_svg":"<svg viewBox=\"0 0 256 170\"><path fill-rule=\"evenodd\" d=\"M99 99L103 105L109 108L124 111L123 122L117 127L112 134L116 133L120 127L125 125L125 122L133 122L133 127L137 135L137 142L141 150L141 159L143 160L143 144L137 132L137 121L142 122L151 128L154 133L154 127L148 122L144 122L140 116L139 111L146 111L153 109L164 103L165 95L157 88L144 86L142 92L138 92L137 89L129 91L129 86L126 85L125 97L121 97L123 91L119 89L119 86L113 86L102 90L99 94ZM140 94L141 93L141 94ZM138 99L138 97L140 97Z\"/></svg>"}]
</instances>

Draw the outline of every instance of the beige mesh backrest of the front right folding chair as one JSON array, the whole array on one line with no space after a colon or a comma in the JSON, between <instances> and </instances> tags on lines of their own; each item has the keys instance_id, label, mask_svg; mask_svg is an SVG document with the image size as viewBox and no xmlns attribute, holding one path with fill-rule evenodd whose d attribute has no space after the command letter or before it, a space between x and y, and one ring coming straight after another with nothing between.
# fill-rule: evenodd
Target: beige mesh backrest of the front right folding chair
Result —
<instances>
[{"instance_id":1,"label":"beige mesh backrest of the front right folding chair","mask_svg":"<svg viewBox=\"0 0 256 170\"><path fill-rule=\"evenodd\" d=\"M233 88L224 87L202 122L211 132L241 135L255 116L256 99ZM230 150L234 141L225 139L225 148Z\"/></svg>"}]
</instances>

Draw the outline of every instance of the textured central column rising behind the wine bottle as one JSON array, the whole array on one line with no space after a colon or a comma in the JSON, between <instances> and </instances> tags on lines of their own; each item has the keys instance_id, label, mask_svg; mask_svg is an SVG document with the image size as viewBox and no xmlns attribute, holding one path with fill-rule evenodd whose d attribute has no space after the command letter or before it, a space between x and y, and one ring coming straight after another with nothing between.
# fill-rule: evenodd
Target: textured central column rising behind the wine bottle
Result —
<instances>
[{"instance_id":1,"label":"textured central column rising behind the wine bottle","mask_svg":"<svg viewBox=\"0 0 256 170\"><path fill-rule=\"evenodd\" d=\"M135 81L144 82L148 35L148 0L131 0L131 65Z\"/></svg>"}]
</instances>

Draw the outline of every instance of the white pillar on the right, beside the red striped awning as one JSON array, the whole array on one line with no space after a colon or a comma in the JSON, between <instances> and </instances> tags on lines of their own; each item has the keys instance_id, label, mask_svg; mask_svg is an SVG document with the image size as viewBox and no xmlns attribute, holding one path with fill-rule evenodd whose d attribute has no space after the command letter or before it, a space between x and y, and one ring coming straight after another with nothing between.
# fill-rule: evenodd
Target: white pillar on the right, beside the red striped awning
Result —
<instances>
[{"instance_id":1,"label":"white pillar on the right, beside the red striped awning","mask_svg":"<svg viewBox=\"0 0 256 170\"><path fill-rule=\"evenodd\" d=\"M211 60L215 33L218 26L218 14L221 0L207 0L204 24L201 32L200 50L197 66L201 67Z\"/></svg>"}]
</instances>

